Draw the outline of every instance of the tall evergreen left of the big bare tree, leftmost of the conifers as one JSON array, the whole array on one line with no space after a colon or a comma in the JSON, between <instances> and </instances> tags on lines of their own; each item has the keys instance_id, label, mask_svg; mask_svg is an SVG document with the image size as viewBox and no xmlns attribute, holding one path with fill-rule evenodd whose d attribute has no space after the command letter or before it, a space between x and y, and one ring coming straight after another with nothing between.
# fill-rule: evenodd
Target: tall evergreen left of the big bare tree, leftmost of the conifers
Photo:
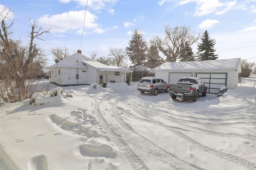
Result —
<instances>
[{"instance_id":1,"label":"tall evergreen left of the big bare tree, leftmost of the conifers","mask_svg":"<svg viewBox=\"0 0 256 170\"><path fill-rule=\"evenodd\" d=\"M146 41L143 39L143 35L139 33L138 29L135 29L132 34L132 39L129 40L129 47L126 47L126 53L130 58L130 61L134 66L144 65L146 62Z\"/></svg>"}]
</instances>

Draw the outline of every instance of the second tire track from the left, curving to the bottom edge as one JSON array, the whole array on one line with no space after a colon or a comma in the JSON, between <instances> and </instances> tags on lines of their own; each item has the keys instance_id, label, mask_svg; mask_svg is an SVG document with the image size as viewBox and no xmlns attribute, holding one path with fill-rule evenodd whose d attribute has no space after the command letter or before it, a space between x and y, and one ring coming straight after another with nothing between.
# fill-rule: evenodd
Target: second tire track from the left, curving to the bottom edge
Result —
<instances>
[{"instance_id":1,"label":"second tire track from the left, curving to the bottom edge","mask_svg":"<svg viewBox=\"0 0 256 170\"><path fill-rule=\"evenodd\" d=\"M113 107L112 111L114 114L114 118L119 123L119 125L122 127L122 129L124 129L124 130L122 130L121 133L125 133L125 135L123 135L123 136L126 139L126 141L128 141L128 143L132 143L134 141L134 139L136 139L137 141L143 141L143 143L141 143L141 144L137 143L140 150L143 150L144 153L146 153L150 158L153 156L158 161L163 162L163 164L168 164L175 169L186 169L186 170L198 169L197 166L189 164L188 162L185 162L184 160L180 160L173 154L170 154L169 152L162 149L161 147L158 147L157 145L155 145L154 143L152 143L151 141L146 139L144 136L142 136L139 133L137 133L136 131L134 131L134 129L132 129L132 127L128 126L127 123L125 123L123 121L123 119L118 115L117 109L123 113L123 110L120 107L117 107L118 101L114 101L114 103L112 103L110 100L108 100L108 103L110 106ZM126 131L126 132L124 132L124 131ZM131 137L131 135L129 135L128 132L132 133L133 137ZM202 169L202 168L200 168L200 169Z\"/></svg>"}]
</instances>

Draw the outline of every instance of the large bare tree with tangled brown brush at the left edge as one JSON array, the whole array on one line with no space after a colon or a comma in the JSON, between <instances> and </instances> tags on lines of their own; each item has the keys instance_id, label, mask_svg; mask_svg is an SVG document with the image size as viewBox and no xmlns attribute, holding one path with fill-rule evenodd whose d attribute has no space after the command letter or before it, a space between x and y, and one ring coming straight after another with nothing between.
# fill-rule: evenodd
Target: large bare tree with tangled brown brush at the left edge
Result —
<instances>
[{"instance_id":1,"label":"large bare tree with tangled brown brush at the left edge","mask_svg":"<svg viewBox=\"0 0 256 170\"><path fill-rule=\"evenodd\" d=\"M21 101L36 91L36 81L45 64L45 55L36 47L36 39L43 40L41 36L49 33L50 29L39 27L37 22L31 23L30 41L28 46L22 46L22 41L9 38L12 33L6 26L10 10L0 13L0 100L6 102ZM4 15L5 16L4 16ZM37 82L37 83L36 83Z\"/></svg>"}]
</instances>

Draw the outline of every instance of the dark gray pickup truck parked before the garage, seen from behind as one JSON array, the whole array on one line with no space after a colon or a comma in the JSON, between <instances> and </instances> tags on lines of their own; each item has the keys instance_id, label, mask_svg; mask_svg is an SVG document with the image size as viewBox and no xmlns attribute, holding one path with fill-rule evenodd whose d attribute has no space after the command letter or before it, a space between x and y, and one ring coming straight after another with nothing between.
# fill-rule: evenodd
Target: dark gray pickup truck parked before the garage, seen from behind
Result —
<instances>
[{"instance_id":1,"label":"dark gray pickup truck parked before the garage, seen from behind","mask_svg":"<svg viewBox=\"0 0 256 170\"><path fill-rule=\"evenodd\" d=\"M178 83L171 83L167 88L172 99L178 97L192 97L193 102L198 101L198 94L206 96L207 86L201 78L196 77L181 77Z\"/></svg>"}]
</instances>

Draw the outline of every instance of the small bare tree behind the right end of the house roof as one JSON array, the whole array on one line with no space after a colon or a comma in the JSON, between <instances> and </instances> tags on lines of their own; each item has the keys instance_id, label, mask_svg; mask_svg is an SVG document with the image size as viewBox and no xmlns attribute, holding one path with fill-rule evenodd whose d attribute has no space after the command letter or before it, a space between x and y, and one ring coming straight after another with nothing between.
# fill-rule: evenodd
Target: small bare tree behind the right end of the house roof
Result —
<instances>
[{"instance_id":1,"label":"small bare tree behind the right end of the house roof","mask_svg":"<svg viewBox=\"0 0 256 170\"><path fill-rule=\"evenodd\" d=\"M110 48L110 54L108 55L111 57L111 64L113 66L122 66L128 68L127 65L127 53L122 48Z\"/></svg>"}]
</instances>

